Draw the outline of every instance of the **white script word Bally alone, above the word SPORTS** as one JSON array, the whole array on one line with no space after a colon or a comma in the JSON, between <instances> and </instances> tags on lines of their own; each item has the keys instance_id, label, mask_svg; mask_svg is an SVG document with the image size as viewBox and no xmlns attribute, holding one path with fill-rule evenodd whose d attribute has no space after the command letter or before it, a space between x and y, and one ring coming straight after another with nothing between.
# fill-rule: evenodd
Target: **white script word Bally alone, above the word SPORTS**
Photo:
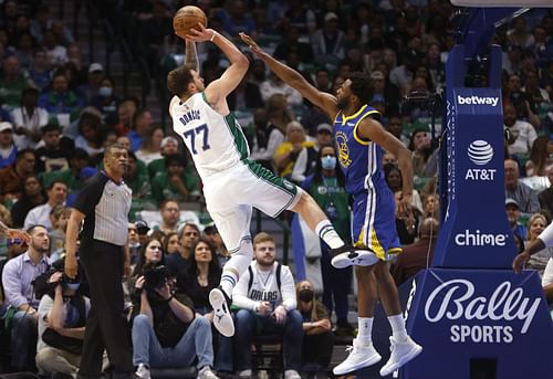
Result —
<instances>
[{"instance_id":1,"label":"white script word Bally alone, above the word SPORTS","mask_svg":"<svg viewBox=\"0 0 553 379\"><path fill-rule=\"evenodd\" d=\"M474 296L472 282L456 278L432 291L425 304L425 316L430 323L442 318L507 323L519 319L523 322L520 333L525 334L541 299L524 295L523 288L512 288L510 282L503 282L489 296Z\"/></svg>"}]
</instances>

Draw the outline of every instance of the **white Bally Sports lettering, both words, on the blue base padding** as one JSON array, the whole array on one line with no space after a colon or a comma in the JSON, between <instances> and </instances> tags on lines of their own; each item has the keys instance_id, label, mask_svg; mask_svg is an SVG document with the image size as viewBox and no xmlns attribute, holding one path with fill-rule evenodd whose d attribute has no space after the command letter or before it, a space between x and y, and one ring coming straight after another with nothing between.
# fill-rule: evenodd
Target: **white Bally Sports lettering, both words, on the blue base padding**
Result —
<instances>
[{"instance_id":1,"label":"white Bally Sports lettering, both words, on the blue base padding","mask_svg":"<svg viewBox=\"0 0 553 379\"><path fill-rule=\"evenodd\" d=\"M437 286L425 304L429 323L452 322L449 327L452 343L510 344L523 335L534 319L541 299L525 296L522 287L511 282L500 283L489 294L477 295L474 284L455 278ZM522 323L520 330L514 323Z\"/></svg>"}]
</instances>

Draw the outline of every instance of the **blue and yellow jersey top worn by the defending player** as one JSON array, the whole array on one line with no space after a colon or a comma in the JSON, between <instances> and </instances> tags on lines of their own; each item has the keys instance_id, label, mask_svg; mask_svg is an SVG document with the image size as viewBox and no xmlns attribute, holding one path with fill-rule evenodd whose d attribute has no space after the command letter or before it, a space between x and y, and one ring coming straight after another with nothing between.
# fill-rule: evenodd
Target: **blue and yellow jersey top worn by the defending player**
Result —
<instances>
[{"instance_id":1,"label":"blue and yellow jersey top worn by the defending player","mask_svg":"<svg viewBox=\"0 0 553 379\"><path fill-rule=\"evenodd\" d=\"M382 169L382 147L361 139L357 127L369 116L379 116L375 108L364 105L352 116L340 112L334 119L334 140L340 166L346 178L346 190L351 194L386 185Z\"/></svg>"}]
</instances>

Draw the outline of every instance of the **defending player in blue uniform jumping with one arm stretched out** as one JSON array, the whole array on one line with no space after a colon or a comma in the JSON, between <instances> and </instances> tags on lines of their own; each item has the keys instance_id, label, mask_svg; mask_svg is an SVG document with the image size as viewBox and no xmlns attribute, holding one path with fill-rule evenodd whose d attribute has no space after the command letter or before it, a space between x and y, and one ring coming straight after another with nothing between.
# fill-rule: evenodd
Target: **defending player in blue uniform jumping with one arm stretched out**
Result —
<instances>
[{"instance_id":1,"label":"defending player in blue uniform jumping with one arm stretched out","mask_svg":"<svg viewBox=\"0 0 553 379\"><path fill-rule=\"evenodd\" d=\"M420 354L422 348L407 335L397 288L389 273L389 255L400 252L394 221L394 196L382 172L382 149L398 157L404 187L398 213L411 215L413 162L410 152L378 122L378 110L366 104L373 92L368 75L352 73L336 95L320 92L296 71L265 53L249 35L242 41L276 76L298 90L310 102L334 119L334 141L338 161L346 178L346 191L353 197L353 234L356 245L371 246L378 263L358 267L358 334L346 360L336 366L334 375L345 375L378 362L382 357L372 341L374 307L379 298L392 325L392 355L380 369L388 376ZM334 264L334 263L333 263ZM376 282L378 285L376 285Z\"/></svg>"}]
</instances>

